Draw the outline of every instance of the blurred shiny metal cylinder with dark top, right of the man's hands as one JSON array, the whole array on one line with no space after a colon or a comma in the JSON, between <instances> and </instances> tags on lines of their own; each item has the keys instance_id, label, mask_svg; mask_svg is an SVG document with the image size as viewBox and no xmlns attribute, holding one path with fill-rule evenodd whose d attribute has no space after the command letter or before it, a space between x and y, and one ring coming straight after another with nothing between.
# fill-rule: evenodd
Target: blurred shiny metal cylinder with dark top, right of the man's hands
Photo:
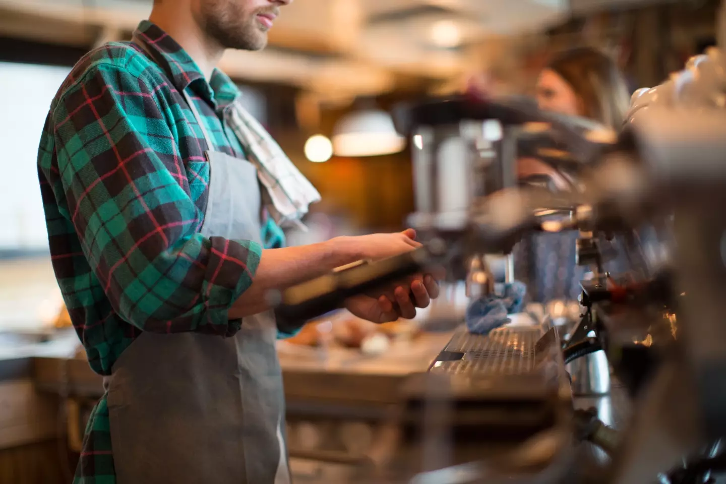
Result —
<instances>
[{"instance_id":1,"label":"blurred shiny metal cylinder with dark top, right of the man's hands","mask_svg":"<svg viewBox=\"0 0 726 484\"><path fill-rule=\"evenodd\" d=\"M515 186L513 134L526 113L459 97L401 104L393 119L412 144L415 213L409 226L424 242L449 247L449 279L479 280L480 290L491 286L489 265L468 240L471 213L486 195ZM501 252L510 253L510 247ZM504 264L509 278L510 266Z\"/></svg>"}]
</instances>

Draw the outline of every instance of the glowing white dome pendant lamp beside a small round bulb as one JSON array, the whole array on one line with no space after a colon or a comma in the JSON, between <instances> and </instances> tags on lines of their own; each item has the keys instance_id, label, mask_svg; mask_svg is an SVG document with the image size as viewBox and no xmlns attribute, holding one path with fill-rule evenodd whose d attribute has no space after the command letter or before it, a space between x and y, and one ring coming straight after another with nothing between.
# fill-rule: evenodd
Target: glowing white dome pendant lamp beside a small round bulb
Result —
<instances>
[{"instance_id":1,"label":"glowing white dome pendant lamp beside a small round bulb","mask_svg":"<svg viewBox=\"0 0 726 484\"><path fill-rule=\"evenodd\" d=\"M396 133L391 115L381 110L363 110L344 116L335 126L333 152L337 156L390 155L406 147Z\"/></svg>"}]
</instances>

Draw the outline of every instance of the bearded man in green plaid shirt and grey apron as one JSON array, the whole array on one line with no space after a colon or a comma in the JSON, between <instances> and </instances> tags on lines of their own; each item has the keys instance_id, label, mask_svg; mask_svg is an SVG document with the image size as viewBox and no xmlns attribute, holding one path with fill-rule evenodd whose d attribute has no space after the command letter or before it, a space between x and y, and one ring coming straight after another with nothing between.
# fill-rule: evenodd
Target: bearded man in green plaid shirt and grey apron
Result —
<instances>
[{"instance_id":1,"label":"bearded man in green plaid shirt and grey apron","mask_svg":"<svg viewBox=\"0 0 726 484\"><path fill-rule=\"evenodd\" d=\"M406 231L280 248L318 194L214 66L263 48L289 3L157 0L52 102L38 155L52 260L107 390L76 483L287 483L274 340L292 329L266 292L418 246ZM425 276L346 306L380 323L437 294Z\"/></svg>"}]
</instances>

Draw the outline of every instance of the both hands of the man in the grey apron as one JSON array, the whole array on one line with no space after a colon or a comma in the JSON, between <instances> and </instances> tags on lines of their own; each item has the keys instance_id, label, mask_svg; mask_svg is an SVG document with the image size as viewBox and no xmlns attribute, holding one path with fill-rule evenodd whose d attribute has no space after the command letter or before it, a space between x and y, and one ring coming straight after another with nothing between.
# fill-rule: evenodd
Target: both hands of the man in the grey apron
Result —
<instances>
[{"instance_id":1,"label":"both hands of the man in the grey apron","mask_svg":"<svg viewBox=\"0 0 726 484\"><path fill-rule=\"evenodd\" d=\"M361 258L379 261L394 255L410 252L421 247L415 241L416 231L408 229L399 234L373 234L351 237L348 243L359 246ZM439 284L431 274L413 276L407 281L394 284L378 295L359 295L349 298L348 311L374 323L387 323L396 319L413 319L416 308L425 308L432 299L439 297Z\"/></svg>"}]
</instances>

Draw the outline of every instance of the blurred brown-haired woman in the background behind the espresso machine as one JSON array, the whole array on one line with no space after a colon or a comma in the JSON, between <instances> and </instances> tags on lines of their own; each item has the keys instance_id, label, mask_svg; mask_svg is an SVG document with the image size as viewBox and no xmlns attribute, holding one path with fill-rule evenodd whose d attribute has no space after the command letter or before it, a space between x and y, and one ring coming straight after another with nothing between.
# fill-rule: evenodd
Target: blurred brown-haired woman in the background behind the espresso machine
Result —
<instances>
[{"instance_id":1,"label":"blurred brown-haired woman in the background behind the espresso machine","mask_svg":"<svg viewBox=\"0 0 726 484\"><path fill-rule=\"evenodd\" d=\"M619 131L629 106L624 76L610 57L588 47L556 55L537 80L537 104L542 110L590 118ZM564 175L549 165L527 158L518 163L526 180L548 176L558 189ZM536 234L515 249L517 279L527 282L528 300L576 300L587 268L575 264L576 234Z\"/></svg>"}]
</instances>

